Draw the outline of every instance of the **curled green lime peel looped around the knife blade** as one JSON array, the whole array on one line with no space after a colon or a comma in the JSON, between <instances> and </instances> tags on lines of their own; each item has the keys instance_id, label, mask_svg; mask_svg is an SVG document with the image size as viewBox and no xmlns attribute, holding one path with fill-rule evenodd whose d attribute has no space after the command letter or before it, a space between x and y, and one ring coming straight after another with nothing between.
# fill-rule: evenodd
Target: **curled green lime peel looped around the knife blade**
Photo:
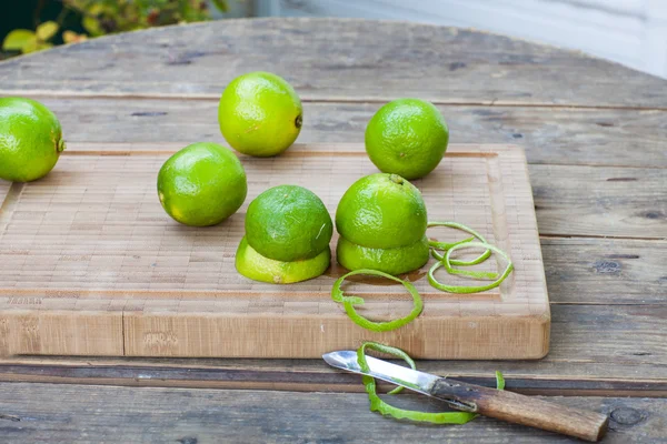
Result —
<instances>
[{"instance_id":1,"label":"curled green lime peel looped around the knife blade","mask_svg":"<svg viewBox=\"0 0 667 444\"><path fill-rule=\"evenodd\" d=\"M361 344L359 350L357 350L357 361L362 371L367 372L369 370L368 362L366 361L366 349L371 349L381 353L387 353L396 357L400 357L406 361L408 365L412 370L417 370L415 362L410 356L400 349L396 349L389 345L379 344L377 342L365 342ZM382 401L377 393L377 386L375 379L372 376L364 375L362 376L364 386L366 387L366 393L368 393L368 400L370 401L370 411L378 412L382 415L391 416L397 420L410 420L415 422L429 423L429 424L466 424L475 417L477 414L469 412L419 412L414 410L405 410L398 408L394 405L390 405ZM500 372L496 372L496 382L498 390L502 390L505 387L505 381L502 380L502 374ZM394 389L389 394L398 393L402 387Z\"/></svg>"}]
</instances>

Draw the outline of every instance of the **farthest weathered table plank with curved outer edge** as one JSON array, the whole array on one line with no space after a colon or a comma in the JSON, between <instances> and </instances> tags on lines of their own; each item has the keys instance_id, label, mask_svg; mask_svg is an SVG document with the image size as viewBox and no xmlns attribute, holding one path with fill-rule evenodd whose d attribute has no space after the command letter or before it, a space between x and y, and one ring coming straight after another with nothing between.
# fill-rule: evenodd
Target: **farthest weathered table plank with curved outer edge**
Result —
<instances>
[{"instance_id":1,"label":"farthest weathered table plank with curved outer edge","mask_svg":"<svg viewBox=\"0 0 667 444\"><path fill-rule=\"evenodd\" d=\"M0 83L2 94L211 97L253 70L286 77L305 99L667 107L665 80L583 53L478 31L339 19L125 33L4 61Z\"/></svg>"}]
</instances>

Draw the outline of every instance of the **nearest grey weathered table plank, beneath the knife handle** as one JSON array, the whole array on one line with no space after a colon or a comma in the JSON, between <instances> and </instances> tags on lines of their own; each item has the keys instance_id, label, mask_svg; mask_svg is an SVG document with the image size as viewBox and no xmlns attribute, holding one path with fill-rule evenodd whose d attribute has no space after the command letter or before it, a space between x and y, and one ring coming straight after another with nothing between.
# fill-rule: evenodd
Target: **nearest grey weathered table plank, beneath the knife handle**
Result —
<instances>
[{"instance_id":1,"label":"nearest grey weathered table plank, beneath the knife handle","mask_svg":"<svg viewBox=\"0 0 667 444\"><path fill-rule=\"evenodd\" d=\"M549 397L610 415L605 443L665 443L667 400ZM425 396L392 403L439 411ZM63 405L67 407L63 408ZM8 442L80 443L546 443L556 434L479 417L466 426L382 418L365 394L285 393L0 384L0 431Z\"/></svg>"}]
</instances>

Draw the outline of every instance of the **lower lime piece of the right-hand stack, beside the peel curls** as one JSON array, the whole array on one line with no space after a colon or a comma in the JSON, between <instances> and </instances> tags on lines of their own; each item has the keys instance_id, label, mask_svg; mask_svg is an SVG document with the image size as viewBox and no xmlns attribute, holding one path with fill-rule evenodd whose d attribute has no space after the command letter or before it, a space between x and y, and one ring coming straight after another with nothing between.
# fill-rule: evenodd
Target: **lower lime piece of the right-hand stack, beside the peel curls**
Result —
<instances>
[{"instance_id":1,"label":"lower lime piece of the right-hand stack, beside the peel curls","mask_svg":"<svg viewBox=\"0 0 667 444\"><path fill-rule=\"evenodd\" d=\"M370 269L389 274L408 273L421 268L428 262L428 253L426 236L411 245L396 249L369 249L340 236L336 248L336 259L346 269Z\"/></svg>"}]
</instances>

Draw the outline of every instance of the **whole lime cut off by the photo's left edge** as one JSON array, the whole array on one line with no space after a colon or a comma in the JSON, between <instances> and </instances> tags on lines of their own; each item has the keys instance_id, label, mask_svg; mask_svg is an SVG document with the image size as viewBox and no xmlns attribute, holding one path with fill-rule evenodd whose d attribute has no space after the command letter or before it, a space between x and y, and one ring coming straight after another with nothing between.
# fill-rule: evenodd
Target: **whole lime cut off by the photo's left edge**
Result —
<instances>
[{"instance_id":1,"label":"whole lime cut off by the photo's left edge","mask_svg":"<svg viewBox=\"0 0 667 444\"><path fill-rule=\"evenodd\" d=\"M0 178L30 182L56 167L64 150L60 122L30 99L0 99Z\"/></svg>"}]
</instances>

